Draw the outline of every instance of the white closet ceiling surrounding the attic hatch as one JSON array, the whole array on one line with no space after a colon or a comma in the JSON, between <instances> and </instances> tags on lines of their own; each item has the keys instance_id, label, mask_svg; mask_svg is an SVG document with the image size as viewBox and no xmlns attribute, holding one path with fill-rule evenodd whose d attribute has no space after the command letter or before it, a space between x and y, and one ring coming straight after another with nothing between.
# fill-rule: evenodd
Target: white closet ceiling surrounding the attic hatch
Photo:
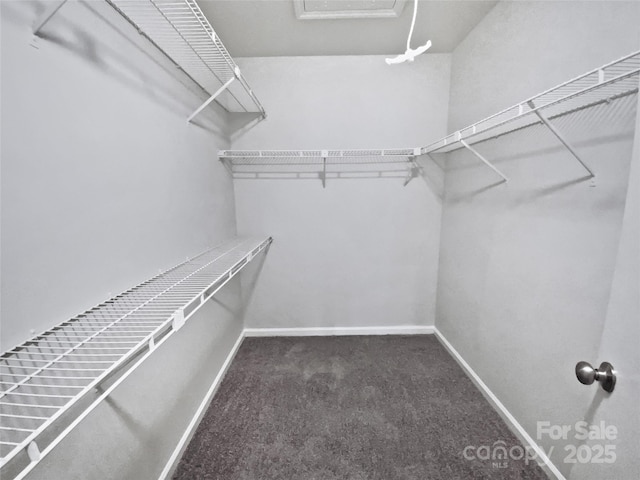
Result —
<instances>
[{"instance_id":1,"label":"white closet ceiling surrounding the attic hatch","mask_svg":"<svg viewBox=\"0 0 640 480\"><path fill-rule=\"evenodd\" d=\"M430 39L429 52L453 51L496 3L420 0L411 46ZM198 4L234 57L396 55L405 50L413 15L410 0L398 18L322 20L297 19L294 0L198 0Z\"/></svg>"}]
</instances>

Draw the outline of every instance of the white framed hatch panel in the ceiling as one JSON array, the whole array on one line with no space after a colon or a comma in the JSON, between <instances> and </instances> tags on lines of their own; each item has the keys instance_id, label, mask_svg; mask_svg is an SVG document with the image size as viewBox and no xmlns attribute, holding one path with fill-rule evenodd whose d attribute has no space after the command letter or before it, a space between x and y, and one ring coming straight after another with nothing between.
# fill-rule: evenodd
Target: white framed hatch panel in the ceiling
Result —
<instances>
[{"instance_id":1,"label":"white framed hatch panel in the ceiling","mask_svg":"<svg viewBox=\"0 0 640 480\"><path fill-rule=\"evenodd\" d=\"M406 0L293 0L300 20L396 18Z\"/></svg>"}]
</instances>

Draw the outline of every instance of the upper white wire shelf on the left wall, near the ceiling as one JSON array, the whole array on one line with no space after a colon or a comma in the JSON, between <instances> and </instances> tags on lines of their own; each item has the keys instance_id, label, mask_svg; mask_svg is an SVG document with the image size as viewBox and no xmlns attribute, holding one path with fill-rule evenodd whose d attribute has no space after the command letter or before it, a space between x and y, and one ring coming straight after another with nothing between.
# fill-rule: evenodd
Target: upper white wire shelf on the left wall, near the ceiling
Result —
<instances>
[{"instance_id":1,"label":"upper white wire shelf on the left wall, near the ceiling","mask_svg":"<svg viewBox=\"0 0 640 480\"><path fill-rule=\"evenodd\" d=\"M40 30L67 2L53 2L34 26ZM138 32L167 55L209 98L188 118L193 120L214 100L228 112L265 110L195 0L106 0Z\"/></svg>"}]
</instances>

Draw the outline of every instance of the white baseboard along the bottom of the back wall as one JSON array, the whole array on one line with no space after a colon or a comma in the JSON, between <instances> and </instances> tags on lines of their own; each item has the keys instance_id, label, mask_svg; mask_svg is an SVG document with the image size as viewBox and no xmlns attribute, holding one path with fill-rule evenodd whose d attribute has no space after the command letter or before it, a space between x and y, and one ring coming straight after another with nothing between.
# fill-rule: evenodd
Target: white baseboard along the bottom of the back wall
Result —
<instances>
[{"instance_id":1,"label":"white baseboard along the bottom of the back wall","mask_svg":"<svg viewBox=\"0 0 640 480\"><path fill-rule=\"evenodd\" d=\"M292 327L245 328L246 337L310 337L337 335L426 335L434 332L433 326L388 325L380 327Z\"/></svg>"}]
</instances>

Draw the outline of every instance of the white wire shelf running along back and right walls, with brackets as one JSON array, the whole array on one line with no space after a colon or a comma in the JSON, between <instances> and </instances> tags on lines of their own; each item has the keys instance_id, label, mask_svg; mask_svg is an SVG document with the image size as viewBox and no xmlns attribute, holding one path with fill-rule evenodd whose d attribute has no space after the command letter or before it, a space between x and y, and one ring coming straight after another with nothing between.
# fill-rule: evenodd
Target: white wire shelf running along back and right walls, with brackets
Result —
<instances>
[{"instance_id":1,"label":"white wire shelf running along back and right walls, with brackets","mask_svg":"<svg viewBox=\"0 0 640 480\"><path fill-rule=\"evenodd\" d=\"M332 163L357 164L362 163L363 159L378 164L405 163L407 179L410 180L418 168L416 157L466 148L507 181L507 177L473 145L532 125L544 124L580 162L589 176L593 177L591 169L552 121L563 115L637 93L639 76L640 52L634 52L423 147L389 150L222 150L218 157L229 167L234 178L265 178L269 170L278 165L315 165L315 176L320 177L324 184L327 178L326 167ZM258 170L258 167L262 170ZM407 183L408 181L405 185Z\"/></svg>"}]
</instances>

